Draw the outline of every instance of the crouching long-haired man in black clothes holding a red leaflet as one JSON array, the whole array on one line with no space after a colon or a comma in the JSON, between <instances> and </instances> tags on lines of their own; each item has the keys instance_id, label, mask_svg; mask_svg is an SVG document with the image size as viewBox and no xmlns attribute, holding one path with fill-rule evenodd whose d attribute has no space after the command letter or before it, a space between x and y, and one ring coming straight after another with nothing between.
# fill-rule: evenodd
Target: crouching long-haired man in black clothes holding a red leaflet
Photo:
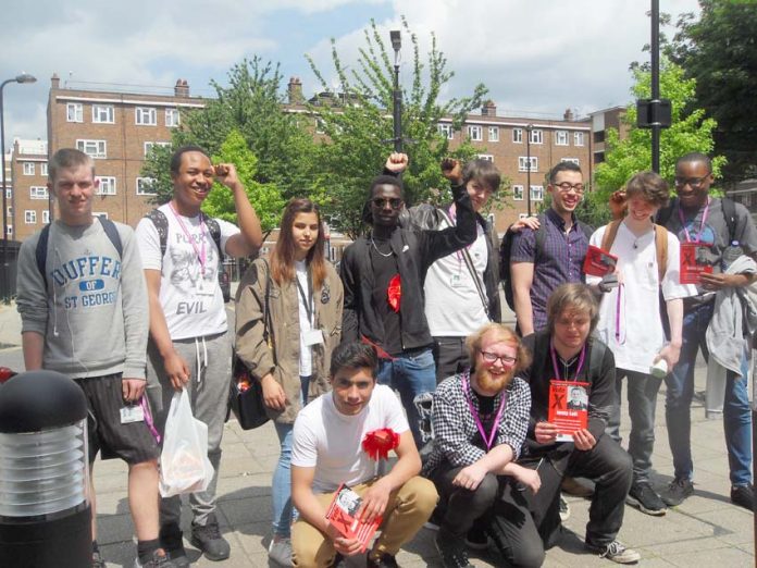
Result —
<instances>
[{"instance_id":1,"label":"crouching long-haired man in black clothes holding a red leaflet","mask_svg":"<svg viewBox=\"0 0 757 568\"><path fill-rule=\"evenodd\" d=\"M532 513L546 545L554 544L560 526L559 491L564 476L596 483L588 510L585 546L619 564L638 561L640 554L616 540L623 523L631 487L631 457L605 434L612 410L616 378L612 351L591 337L599 318L597 301L584 284L559 286L547 302L547 329L523 338L533 363L524 372L531 386L531 427L521 464L535 465L542 487ZM551 381L587 383L587 425L573 442L558 442L558 428L548 421ZM529 495L526 495L528 497Z\"/></svg>"}]
</instances>

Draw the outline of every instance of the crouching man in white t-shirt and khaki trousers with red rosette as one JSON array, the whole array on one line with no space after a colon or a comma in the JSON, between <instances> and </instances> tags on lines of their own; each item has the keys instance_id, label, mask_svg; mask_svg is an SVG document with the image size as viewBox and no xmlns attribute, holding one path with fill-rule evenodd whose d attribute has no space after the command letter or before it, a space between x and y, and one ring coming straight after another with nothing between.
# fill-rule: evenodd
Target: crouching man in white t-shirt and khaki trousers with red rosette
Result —
<instances>
[{"instance_id":1,"label":"crouching man in white t-shirt and khaki trousers with red rosette","mask_svg":"<svg viewBox=\"0 0 757 568\"><path fill-rule=\"evenodd\" d=\"M291 528L293 565L327 567L336 553L360 552L328 523L326 510L339 484L362 497L358 516L370 522L383 517L381 535L367 566L392 568L395 555L429 519L438 496L433 483L418 477L421 458L394 392L376 385L378 359L373 347L343 343L331 360L333 391L321 395L297 417L291 447L291 499L300 516ZM369 432L392 429L399 434L399 458L384 477L362 448Z\"/></svg>"}]
</instances>

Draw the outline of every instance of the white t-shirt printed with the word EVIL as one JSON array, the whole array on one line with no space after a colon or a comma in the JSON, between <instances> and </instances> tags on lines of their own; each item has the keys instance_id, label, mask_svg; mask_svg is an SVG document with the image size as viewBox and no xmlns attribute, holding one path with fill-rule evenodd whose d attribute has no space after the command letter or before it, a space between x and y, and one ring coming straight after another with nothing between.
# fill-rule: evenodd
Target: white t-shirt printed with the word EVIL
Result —
<instances>
[{"instance_id":1,"label":"white t-shirt printed with the word EVIL","mask_svg":"<svg viewBox=\"0 0 757 568\"><path fill-rule=\"evenodd\" d=\"M210 230L200 224L200 215L177 217L169 203L159 209L169 220L165 257L161 257L158 230L147 218L137 225L137 242L142 267L162 272L160 304L171 338L225 332L226 310L218 275L222 259ZM221 248L225 250L226 240L239 233L239 229L227 221L216 221L221 227ZM200 263L202 256L204 267Z\"/></svg>"}]
</instances>

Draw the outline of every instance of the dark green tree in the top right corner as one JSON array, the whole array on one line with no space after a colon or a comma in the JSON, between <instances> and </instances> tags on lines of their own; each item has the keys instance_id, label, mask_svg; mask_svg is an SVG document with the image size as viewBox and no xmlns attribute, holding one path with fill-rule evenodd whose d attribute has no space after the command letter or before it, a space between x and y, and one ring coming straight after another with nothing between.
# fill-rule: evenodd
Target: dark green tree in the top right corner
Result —
<instances>
[{"instance_id":1,"label":"dark green tree in the top right corner","mask_svg":"<svg viewBox=\"0 0 757 568\"><path fill-rule=\"evenodd\" d=\"M699 0L699 20L683 14L671 58L696 79L696 108L715 119L715 150L728 159L723 178L757 175L757 4Z\"/></svg>"}]
</instances>

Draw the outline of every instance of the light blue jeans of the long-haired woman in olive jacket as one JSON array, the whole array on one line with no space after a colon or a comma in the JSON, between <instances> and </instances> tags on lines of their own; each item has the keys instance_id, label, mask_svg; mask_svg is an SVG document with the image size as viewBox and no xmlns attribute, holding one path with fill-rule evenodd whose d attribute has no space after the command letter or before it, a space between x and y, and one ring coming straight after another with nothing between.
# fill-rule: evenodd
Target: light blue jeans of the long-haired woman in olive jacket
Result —
<instances>
[{"instance_id":1,"label":"light blue jeans of the long-haired woman in olive jacket","mask_svg":"<svg viewBox=\"0 0 757 568\"><path fill-rule=\"evenodd\" d=\"M300 392L300 403L305 404L308 399L308 386L310 376L300 376L302 390ZM271 482L271 496L273 498L273 533L277 536L289 538L291 534L291 522L297 513L291 507L291 435L295 424L284 424L274 422L278 442L282 445L278 455L278 464L273 471Z\"/></svg>"}]
</instances>

